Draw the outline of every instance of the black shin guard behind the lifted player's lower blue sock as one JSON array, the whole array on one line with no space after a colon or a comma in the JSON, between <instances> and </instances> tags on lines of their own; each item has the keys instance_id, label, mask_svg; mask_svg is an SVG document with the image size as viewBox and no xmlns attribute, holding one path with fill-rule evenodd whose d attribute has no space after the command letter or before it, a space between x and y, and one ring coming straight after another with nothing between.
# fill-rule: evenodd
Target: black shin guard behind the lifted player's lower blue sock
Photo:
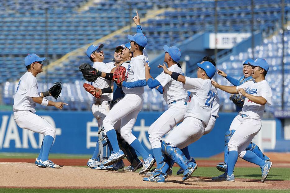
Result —
<instances>
[{"instance_id":1,"label":"black shin guard behind the lifted player's lower blue sock","mask_svg":"<svg viewBox=\"0 0 290 193\"><path fill-rule=\"evenodd\" d=\"M139 163L138 155L136 151L117 133L117 140L120 146L120 149L124 152L126 159L133 165L137 166Z\"/></svg>"}]
</instances>

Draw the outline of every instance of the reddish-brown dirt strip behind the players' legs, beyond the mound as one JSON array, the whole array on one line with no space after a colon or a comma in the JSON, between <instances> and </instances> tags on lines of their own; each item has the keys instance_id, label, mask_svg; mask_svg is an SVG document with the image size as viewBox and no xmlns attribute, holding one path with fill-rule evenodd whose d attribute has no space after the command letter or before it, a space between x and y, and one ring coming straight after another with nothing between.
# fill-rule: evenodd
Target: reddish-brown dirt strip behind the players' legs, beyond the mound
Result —
<instances>
[{"instance_id":1,"label":"reddish-brown dirt strip behind the players' legs, beyond the mound","mask_svg":"<svg viewBox=\"0 0 290 193\"><path fill-rule=\"evenodd\" d=\"M290 168L290 153L267 153L271 161L275 164L275 168ZM89 159L89 158L88 158ZM88 159L52 159L54 163L63 166L85 166ZM197 164L200 167L215 167L218 162L223 162L224 155L219 154L208 159L197 159ZM0 159L0 162L27 162L34 163L35 159ZM125 165L130 165L128 160L124 159ZM175 166L177 166L175 164ZM257 167L253 163L249 163L242 159L238 159L236 167Z\"/></svg>"}]
</instances>

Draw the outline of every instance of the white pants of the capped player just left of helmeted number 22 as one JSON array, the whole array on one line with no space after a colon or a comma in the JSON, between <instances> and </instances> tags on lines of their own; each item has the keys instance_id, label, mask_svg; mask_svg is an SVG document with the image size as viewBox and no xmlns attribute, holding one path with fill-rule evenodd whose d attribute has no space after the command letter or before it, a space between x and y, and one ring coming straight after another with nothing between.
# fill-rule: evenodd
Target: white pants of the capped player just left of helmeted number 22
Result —
<instances>
[{"instance_id":1,"label":"white pants of the capped player just left of helmeted number 22","mask_svg":"<svg viewBox=\"0 0 290 193\"><path fill-rule=\"evenodd\" d=\"M184 101L177 101L168 105L165 111L152 125L149 127L149 141L152 149L161 148L161 137L168 133L179 122L183 121L186 105Z\"/></svg>"}]
</instances>

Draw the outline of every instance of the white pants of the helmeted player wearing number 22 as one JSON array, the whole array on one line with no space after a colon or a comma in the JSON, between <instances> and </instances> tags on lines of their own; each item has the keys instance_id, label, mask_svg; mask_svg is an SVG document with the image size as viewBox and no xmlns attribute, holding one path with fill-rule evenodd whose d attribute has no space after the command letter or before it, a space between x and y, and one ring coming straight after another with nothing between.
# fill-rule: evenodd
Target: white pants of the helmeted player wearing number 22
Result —
<instances>
[{"instance_id":1,"label":"white pants of the helmeted player wearing number 22","mask_svg":"<svg viewBox=\"0 0 290 193\"><path fill-rule=\"evenodd\" d=\"M183 149L202 137L205 124L197 118L186 117L179 126L175 127L168 137L166 143Z\"/></svg>"}]
</instances>

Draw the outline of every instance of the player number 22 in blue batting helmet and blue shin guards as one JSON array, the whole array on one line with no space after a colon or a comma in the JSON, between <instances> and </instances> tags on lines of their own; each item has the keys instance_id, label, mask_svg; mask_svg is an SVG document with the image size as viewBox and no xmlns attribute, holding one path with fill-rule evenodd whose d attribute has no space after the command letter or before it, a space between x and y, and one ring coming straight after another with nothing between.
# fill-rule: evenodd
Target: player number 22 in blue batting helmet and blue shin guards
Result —
<instances>
[{"instance_id":1,"label":"player number 22 in blue batting helmet and blue shin guards","mask_svg":"<svg viewBox=\"0 0 290 193\"><path fill-rule=\"evenodd\" d=\"M143 178L143 181L164 183L165 173L174 162L184 170L182 180L187 180L197 168L197 164L189 162L180 149L197 141L203 135L211 118L211 109L217 94L211 85L211 78L215 75L214 65L211 62L201 62L197 65L199 66L197 78L171 72L165 65L159 65L174 80L182 82L183 88L192 93L192 98L188 100L184 121L170 132L166 142L161 143L163 156L156 171L151 177Z\"/></svg>"}]
</instances>

